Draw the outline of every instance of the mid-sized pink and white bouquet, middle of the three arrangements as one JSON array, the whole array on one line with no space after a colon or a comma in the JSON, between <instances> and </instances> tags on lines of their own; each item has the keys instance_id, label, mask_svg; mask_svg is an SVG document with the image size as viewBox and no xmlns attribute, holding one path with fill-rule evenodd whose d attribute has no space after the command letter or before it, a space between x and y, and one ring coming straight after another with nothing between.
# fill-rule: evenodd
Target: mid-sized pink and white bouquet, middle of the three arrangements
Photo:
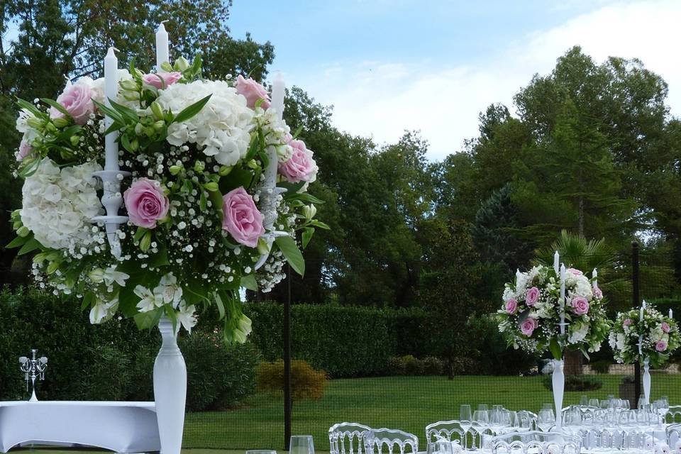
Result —
<instances>
[{"instance_id":1,"label":"mid-sized pink and white bouquet, middle of the three arrangements","mask_svg":"<svg viewBox=\"0 0 681 454\"><path fill-rule=\"evenodd\" d=\"M506 284L503 300L499 331L509 345L529 353L550 350L561 359L569 348L586 355L600 349L609 331L603 293L580 270L565 273L565 334L560 333L560 278L553 268L518 272L516 282Z\"/></svg>"}]
</instances>

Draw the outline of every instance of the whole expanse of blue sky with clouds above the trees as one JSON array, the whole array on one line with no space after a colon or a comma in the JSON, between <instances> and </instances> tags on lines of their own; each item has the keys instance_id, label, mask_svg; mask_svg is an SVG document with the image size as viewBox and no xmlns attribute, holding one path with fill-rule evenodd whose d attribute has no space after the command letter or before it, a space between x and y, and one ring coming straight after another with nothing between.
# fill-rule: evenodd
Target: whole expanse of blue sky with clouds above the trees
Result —
<instances>
[{"instance_id":1,"label":"whole expanse of blue sky with clouds above the trees","mask_svg":"<svg viewBox=\"0 0 681 454\"><path fill-rule=\"evenodd\" d=\"M678 0L233 0L228 26L269 40L270 76L333 105L337 128L379 145L419 130L441 160L573 45L643 61L681 116L679 18Z\"/></svg>"}]
</instances>

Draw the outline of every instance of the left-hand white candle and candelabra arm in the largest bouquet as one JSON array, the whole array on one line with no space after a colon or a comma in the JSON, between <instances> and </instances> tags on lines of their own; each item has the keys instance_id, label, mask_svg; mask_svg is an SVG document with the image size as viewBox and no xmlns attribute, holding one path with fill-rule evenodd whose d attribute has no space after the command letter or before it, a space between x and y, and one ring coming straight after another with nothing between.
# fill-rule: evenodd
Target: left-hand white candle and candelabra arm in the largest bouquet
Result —
<instances>
[{"instance_id":1,"label":"left-hand white candle and candelabra arm in the largest bouquet","mask_svg":"<svg viewBox=\"0 0 681 454\"><path fill-rule=\"evenodd\" d=\"M118 98L118 59L116 49L109 48L109 52L104 57L104 94L106 106L111 107L109 99ZM109 129L114 120L109 116L104 118L104 127ZM104 223L106 227L106 238L109 240L111 254L115 258L121 258L121 240L118 238L118 226L128 222L128 216L119 216L118 210L123 205L121 196L121 181L123 177L128 177L130 172L125 172L118 168L118 132L112 131L106 135L104 143L104 170L94 172L96 177L101 178L104 194L101 196L101 204L106 209L105 216L92 218L93 222Z\"/></svg>"}]
</instances>

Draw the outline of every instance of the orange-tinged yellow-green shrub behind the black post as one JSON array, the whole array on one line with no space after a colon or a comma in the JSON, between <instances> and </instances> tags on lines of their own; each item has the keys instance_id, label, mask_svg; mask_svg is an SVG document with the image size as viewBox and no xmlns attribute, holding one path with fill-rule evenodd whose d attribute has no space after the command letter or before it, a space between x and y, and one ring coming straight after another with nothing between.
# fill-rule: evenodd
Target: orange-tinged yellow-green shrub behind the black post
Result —
<instances>
[{"instance_id":1,"label":"orange-tinged yellow-green shrub behind the black post","mask_svg":"<svg viewBox=\"0 0 681 454\"><path fill-rule=\"evenodd\" d=\"M258 366L258 389L266 392L280 392L284 389L284 361L262 362ZM314 370L304 360L291 362L291 397L294 401L302 399L319 400L324 395L328 380L326 372Z\"/></svg>"}]
</instances>

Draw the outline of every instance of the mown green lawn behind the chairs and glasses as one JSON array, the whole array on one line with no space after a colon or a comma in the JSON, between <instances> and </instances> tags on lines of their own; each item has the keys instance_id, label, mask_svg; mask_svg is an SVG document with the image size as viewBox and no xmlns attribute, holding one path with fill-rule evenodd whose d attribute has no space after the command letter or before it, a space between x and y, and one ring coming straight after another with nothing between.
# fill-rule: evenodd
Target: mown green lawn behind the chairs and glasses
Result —
<instances>
[{"instance_id":1,"label":"mown green lawn behind the chairs and glasses","mask_svg":"<svg viewBox=\"0 0 681 454\"><path fill-rule=\"evenodd\" d=\"M581 394L607 397L619 394L621 375L599 375L603 387L595 392L566 392L565 405ZM537 411L552 402L541 377L377 377L329 382L317 402L296 402L293 433L314 436L318 450L328 450L327 431L333 423L355 421L373 427L401 428L423 438L428 423L458 419L460 404L502 404L509 409ZM681 376L653 374L653 397L666 394L681 403ZM256 394L243 409L187 415L186 448L273 448L283 445L281 394ZM421 446L425 449L425 446Z\"/></svg>"}]
</instances>

